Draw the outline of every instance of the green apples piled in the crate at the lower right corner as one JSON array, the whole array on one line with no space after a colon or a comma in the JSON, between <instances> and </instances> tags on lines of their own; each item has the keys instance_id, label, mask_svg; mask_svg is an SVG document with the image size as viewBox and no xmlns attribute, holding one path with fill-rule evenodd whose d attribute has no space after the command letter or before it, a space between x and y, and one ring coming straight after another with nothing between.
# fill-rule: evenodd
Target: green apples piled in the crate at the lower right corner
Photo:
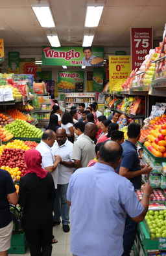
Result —
<instances>
[{"instance_id":1,"label":"green apples piled in the crate at the lower right corner","mask_svg":"<svg viewBox=\"0 0 166 256\"><path fill-rule=\"evenodd\" d=\"M145 220L151 238L166 238L166 210L148 210Z\"/></svg>"}]
</instances>

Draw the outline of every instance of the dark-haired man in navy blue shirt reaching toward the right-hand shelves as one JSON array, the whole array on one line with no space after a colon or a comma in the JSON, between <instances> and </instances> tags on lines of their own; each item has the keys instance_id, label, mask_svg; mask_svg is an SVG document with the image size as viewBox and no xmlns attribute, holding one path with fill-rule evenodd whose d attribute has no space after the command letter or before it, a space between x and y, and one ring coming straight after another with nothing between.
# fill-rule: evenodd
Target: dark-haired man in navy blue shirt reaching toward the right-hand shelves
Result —
<instances>
[{"instance_id":1,"label":"dark-haired man in navy blue shirt reaching toward the right-hand shelves","mask_svg":"<svg viewBox=\"0 0 166 256\"><path fill-rule=\"evenodd\" d=\"M149 174L152 168L150 166L141 166L137 154L136 143L139 141L141 127L136 122L128 125L128 139L122 144L123 155L119 175L126 177L132 182L135 189L141 188L141 175ZM134 244L137 232L137 223L126 216L125 231L124 231L124 254L129 256L130 250Z\"/></svg>"}]
</instances>

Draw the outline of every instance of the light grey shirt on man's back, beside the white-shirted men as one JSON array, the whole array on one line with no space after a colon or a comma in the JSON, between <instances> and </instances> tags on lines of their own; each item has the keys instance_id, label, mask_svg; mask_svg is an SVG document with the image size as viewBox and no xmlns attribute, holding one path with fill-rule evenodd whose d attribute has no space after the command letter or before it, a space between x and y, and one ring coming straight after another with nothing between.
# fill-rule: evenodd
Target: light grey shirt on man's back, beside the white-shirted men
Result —
<instances>
[{"instance_id":1,"label":"light grey shirt on man's back, beside the white-shirted men","mask_svg":"<svg viewBox=\"0 0 166 256\"><path fill-rule=\"evenodd\" d=\"M95 157L95 144L87 135L81 135L73 145L73 160L80 160L82 167L88 166Z\"/></svg>"}]
</instances>

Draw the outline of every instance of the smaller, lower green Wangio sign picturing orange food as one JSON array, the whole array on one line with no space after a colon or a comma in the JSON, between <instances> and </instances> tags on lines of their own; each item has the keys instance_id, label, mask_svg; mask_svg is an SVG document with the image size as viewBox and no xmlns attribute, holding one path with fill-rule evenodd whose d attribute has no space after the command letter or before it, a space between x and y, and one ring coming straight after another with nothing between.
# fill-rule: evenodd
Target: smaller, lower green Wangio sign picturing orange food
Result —
<instances>
[{"instance_id":1,"label":"smaller, lower green Wangio sign picturing orange food","mask_svg":"<svg viewBox=\"0 0 166 256\"><path fill-rule=\"evenodd\" d=\"M84 88L84 71L58 72L58 91L76 91L78 86Z\"/></svg>"}]
</instances>

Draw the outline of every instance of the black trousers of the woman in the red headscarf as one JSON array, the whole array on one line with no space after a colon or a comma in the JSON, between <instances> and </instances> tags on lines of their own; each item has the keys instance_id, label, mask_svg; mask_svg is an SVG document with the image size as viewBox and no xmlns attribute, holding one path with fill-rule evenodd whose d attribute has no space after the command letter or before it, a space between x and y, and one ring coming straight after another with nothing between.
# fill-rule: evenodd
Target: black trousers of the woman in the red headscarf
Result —
<instances>
[{"instance_id":1,"label":"black trousers of the woman in the red headscarf","mask_svg":"<svg viewBox=\"0 0 166 256\"><path fill-rule=\"evenodd\" d=\"M25 229L31 256L51 256L53 227L45 229Z\"/></svg>"}]
</instances>

